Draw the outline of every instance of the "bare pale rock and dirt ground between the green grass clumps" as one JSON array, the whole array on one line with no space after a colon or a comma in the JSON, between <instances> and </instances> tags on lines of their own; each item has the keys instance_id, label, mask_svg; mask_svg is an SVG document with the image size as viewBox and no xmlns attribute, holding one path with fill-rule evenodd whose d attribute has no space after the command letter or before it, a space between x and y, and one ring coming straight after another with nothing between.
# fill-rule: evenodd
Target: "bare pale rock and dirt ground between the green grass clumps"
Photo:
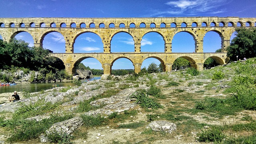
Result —
<instances>
[{"instance_id":1,"label":"bare pale rock and dirt ground between the green grass clumps","mask_svg":"<svg viewBox=\"0 0 256 144\"><path fill-rule=\"evenodd\" d=\"M18 92L21 97L20 102L9 102L8 96L12 93L0 94L0 115L6 119L12 118L12 114L22 106L20 103L29 105L36 103L40 99L52 104L58 104L58 109L55 113L72 113L74 117L64 122L54 124L48 132L52 129L65 129L68 134L74 134L75 139L71 142L78 144L198 144L197 134L202 132L202 129L208 129L212 125L231 125L246 123L242 118L250 116L256 120L256 112L243 110L237 112L235 115L225 115L222 117L214 116L210 113L191 112L194 109L197 101L203 100L205 97L226 98L229 96L224 92L229 86L227 83L231 77L226 77L223 80L214 81L209 77L201 74L200 76L190 76L184 72L170 72L160 74L150 74L149 76L140 76L136 80L130 80L129 76L115 77L112 80L94 80L83 83L81 86L72 88L53 88L46 90L44 93L35 92L31 96L24 96L22 92ZM170 82L178 83L177 86L168 85ZM161 89L160 97L154 98L160 103L163 108L152 110L151 108L145 109L138 104L134 104L134 100L129 96L136 92L136 90L148 90L151 85ZM108 98L100 98L90 102L91 106L103 107L96 110L83 112L82 114L96 116L109 116L113 112L124 114L125 110L134 110L136 114L129 116L123 120L110 120L104 126L95 126L86 128L82 124L80 118L81 113L77 112L78 104L84 100L88 100L93 96L103 94L106 90L118 90L116 94ZM75 94L76 93L76 94ZM28 97L28 98L26 98ZM61 102L61 103L59 103ZM177 110L177 111L176 111ZM180 110L180 111L178 111ZM183 110L183 111L182 111ZM42 120L49 118L51 112L46 112L42 115L32 116L29 120L36 119ZM173 114L173 119L164 118L165 114ZM151 121L149 115L155 116L152 122L164 121L170 122L169 128L163 132L151 132L147 129ZM142 126L136 128L119 128L120 125L142 123ZM203 124L200 128L186 122L194 122ZM168 127L167 126L167 127ZM153 128L152 128L153 129ZM77 134L79 133L79 134ZM6 129L0 129L0 143L7 143L6 140L10 136ZM47 132L46 132L47 134ZM77 136L78 135L78 136ZM85 136L81 136L85 135ZM239 134L234 134L239 135ZM246 134L248 135L248 134ZM44 143L47 142L47 136L42 134L38 139L32 139L20 143Z\"/></svg>"}]
</instances>

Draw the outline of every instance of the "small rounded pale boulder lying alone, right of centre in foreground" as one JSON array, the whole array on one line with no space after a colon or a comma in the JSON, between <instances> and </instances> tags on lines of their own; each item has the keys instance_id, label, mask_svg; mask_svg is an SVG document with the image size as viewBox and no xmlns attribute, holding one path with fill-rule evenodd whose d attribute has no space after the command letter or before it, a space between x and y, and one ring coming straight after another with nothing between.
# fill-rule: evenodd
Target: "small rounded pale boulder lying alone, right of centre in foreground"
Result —
<instances>
[{"instance_id":1,"label":"small rounded pale boulder lying alone, right of centre in foreground","mask_svg":"<svg viewBox=\"0 0 256 144\"><path fill-rule=\"evenodd\" d=\"M154 131L162 131L166 133L172 133L176 130L176 124L167 121L154 121L148 124L146 128L152 128Z\"/></svg>"}]
</instances>

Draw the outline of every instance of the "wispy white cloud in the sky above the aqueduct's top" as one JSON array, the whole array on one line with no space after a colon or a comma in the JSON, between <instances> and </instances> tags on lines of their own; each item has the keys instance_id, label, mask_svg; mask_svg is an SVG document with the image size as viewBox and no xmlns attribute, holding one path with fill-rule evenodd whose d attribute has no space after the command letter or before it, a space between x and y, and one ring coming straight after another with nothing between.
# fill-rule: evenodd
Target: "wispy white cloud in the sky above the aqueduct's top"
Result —
<instances>
[{"instance_id":1,"label":"wispy white cloud in the sky above the aqueduct's top","mask_svg":"<svg viewBox=\"0 0 256 144\"><path fill-rule=\"evenodd\" d=\"M166 14L198 15L200 13L218 14L226 12L221 6L228 4L228 0L172 0L167 2L170 8L166 11L155 11L151 16Z\"/></svg>"}]
</instances>

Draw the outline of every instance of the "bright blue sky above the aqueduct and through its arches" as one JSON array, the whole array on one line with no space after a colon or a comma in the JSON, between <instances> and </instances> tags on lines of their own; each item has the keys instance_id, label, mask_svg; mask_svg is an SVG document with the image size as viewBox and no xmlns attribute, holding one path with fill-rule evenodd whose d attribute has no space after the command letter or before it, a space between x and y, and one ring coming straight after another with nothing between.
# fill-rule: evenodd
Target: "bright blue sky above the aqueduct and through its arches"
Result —
<instances>
[{"instance_id":1,"label":"bright blue sky above the aqueduct and through its arches","mask_svg":"<svg viewBox=\"0 0 256 144\"><path fill-rule=\"evenodd\" d=\"M0 17L183 17L183 16L239 16L255 17L255 0L0 0ZM0 38L2 38L0 36ZM33 46L32 36L26 32L15 38L25 40ZM204 52L215 52L221 46L220 36L208 32L204 38ZM65 52L65 41L61 34L52 32L44 38L44 48L54 52ZM116 34L111 42L112 52L134 52L132 37L126 33ZM142 52L164 52L163 38L148 33L142 38ZM176 34L172 41L172 52L193 52L194 40L186 32ZM74 52L103 52L100 38L85 33L76 39ZM102 69L94 58L82 61L90 68ZM160 62L148 58L142 63ZM121 58L112 69L133 69L132 62Z\"/></svg>"}]
</instances>

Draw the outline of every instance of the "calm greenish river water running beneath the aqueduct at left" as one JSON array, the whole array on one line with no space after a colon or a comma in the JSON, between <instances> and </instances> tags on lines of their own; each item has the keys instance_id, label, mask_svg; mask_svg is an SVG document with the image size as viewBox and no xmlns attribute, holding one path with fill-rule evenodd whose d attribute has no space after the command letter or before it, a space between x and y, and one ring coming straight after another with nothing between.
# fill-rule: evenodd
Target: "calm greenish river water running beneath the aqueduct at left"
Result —
<instances>
[{"instance_id":1,"label":"calm greenish river water running beneath the aqueduct at left","mask_svg":"<svg viewBox=\"0 0 256 144\"><path fill-rule=\"evenodd\" d=\"M92 81L92 80L98 80L100 77L90 78L86 80L81 80L82 82ZM48 90L51 88L55 88L56 86L52 86L52 84L57 84L59 87L62 86L75 86L72 82L58 82L58 83L43 83L43 84L17 84L14 86L0 86L0 94L6 93L6 92L40 92L41 90Z\"/></svg>"}]
</instances>

